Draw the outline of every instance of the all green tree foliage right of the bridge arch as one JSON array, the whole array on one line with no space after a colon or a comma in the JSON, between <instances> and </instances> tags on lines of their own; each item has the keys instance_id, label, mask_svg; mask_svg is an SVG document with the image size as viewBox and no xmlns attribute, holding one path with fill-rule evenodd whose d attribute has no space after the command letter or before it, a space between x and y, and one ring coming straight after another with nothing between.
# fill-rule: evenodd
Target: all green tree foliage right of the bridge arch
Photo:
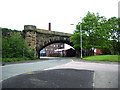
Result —
<instances>
[{"instance_id":1,"label":"all green tree foliage right of the bridge arch","mask_svg":"<svg viewBox=\"0 0 120 90\"><path fill-rule=\"evenodd\" d=\"M82 28L83 48L90 50L92 47L100 49L109 49L112 54L118 54L118 35L120 29L118 28L120 19L111 17L109 19L88 12L82 18L82 22L76 25L76 30L71 36L71 42L74 48L80 49L80 24ZM110 50L111 49L111 50ZM115 53L116 52L116 53Z\"/></svg>"}]
</instances>

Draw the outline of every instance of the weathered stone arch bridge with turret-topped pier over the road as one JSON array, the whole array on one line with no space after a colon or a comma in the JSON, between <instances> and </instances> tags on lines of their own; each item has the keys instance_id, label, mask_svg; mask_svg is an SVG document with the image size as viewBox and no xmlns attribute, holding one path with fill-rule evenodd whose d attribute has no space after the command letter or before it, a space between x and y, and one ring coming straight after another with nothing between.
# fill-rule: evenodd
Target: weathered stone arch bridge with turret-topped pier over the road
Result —
<instances>
[{"instance_id":1,"label":"weathered stone arch bridge with turret-topped pier over the road","mask_svg":"<svg viewBox=\"0 0 120 90\"><path fill-rule=\"evenodd\" d=\"M70 46L72 34L37 29L33 25L25 25L23 35L30 49L35 51L35 57L40 57L40 50L53 43L66 43Z\"/></svg>"}]
</instances>

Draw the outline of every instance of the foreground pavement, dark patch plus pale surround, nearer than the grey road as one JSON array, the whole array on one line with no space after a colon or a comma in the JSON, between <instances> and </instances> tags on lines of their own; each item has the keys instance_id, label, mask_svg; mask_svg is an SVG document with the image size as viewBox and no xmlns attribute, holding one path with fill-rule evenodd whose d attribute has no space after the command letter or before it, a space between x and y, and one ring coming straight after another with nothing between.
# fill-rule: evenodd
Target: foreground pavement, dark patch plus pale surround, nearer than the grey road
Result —
<instances>
[{"instance_id":1,"label":"foreground pavement, dark patch plus pale surround, nearer than the grey road","mask_svg":"<svg viewBox=\"0 0 120 90\"><path fill-rule=\"evenodd\" d=\"M72 61L8 78L3 88L118 88L118 64Z\"/></svg>"}]
</instances>

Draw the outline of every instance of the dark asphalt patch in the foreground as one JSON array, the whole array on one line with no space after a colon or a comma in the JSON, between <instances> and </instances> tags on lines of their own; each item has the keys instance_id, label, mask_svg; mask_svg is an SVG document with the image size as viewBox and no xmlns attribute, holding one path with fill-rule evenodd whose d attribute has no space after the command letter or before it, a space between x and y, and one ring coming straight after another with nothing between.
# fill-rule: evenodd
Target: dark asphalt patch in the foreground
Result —
<instances>
[{"instance_id":1,"label":"dark asphalt patch in the foreground","mask_svg":"<svg viewBox=\"0 0 120 90\"><path fill-rule=\"evenodd\" d=\"M11 77L3 88L93 88L94 71L53 69L35 71Z\"/></svg>"}]
</instances>

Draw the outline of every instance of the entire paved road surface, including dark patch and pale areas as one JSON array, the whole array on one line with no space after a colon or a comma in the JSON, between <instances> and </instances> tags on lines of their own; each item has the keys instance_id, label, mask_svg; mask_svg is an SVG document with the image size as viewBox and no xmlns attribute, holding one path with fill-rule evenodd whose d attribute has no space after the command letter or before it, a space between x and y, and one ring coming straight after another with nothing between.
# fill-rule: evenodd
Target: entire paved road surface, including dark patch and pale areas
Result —
<instances>
[{"instance_id":1,"label":"entire paved road surface, including dark patch and pale areas","mask_svg":"<svg viewBox=\"0 0 120 90\"><path fill-rule=\"evenodd\" d=\"M16 87L20 88L31 88L31 86L34 88L118 88L120 86L117 63L73 61L73 59L53 58L42 62L2 66L4 87L14 87L16 83L18 83ZM18 76L12 77L15 75ZM7 79L9 77L12 78ZM21 82L24 83L21 85L19 84Z\"/></svg>"}]
</instances>

